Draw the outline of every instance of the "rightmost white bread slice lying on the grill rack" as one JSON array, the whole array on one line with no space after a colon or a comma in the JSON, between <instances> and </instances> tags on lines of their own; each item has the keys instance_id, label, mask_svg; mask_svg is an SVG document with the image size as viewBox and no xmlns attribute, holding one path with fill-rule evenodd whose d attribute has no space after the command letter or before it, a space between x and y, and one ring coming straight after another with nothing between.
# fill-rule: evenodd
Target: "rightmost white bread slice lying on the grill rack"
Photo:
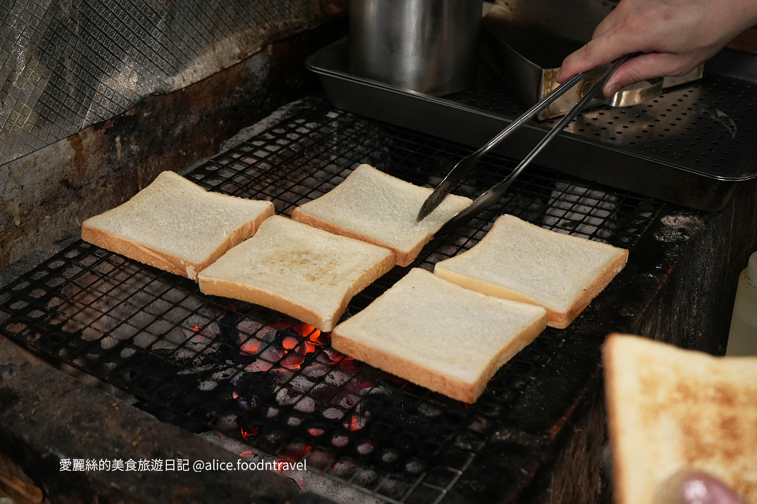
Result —
<instances>
[{"instance_id":1,"label":"rightmost white bread slice lying on the grill rack","mask_svg":"<svg viewBox=\"0 0 757 504\"><path fill-rule=\"evenodd\" d=\"M566 328L620 272L628 250L562 235L503 215L470 250L436 264L445 280L490 296L544 306Z\"/></svg>"}]
</instances>

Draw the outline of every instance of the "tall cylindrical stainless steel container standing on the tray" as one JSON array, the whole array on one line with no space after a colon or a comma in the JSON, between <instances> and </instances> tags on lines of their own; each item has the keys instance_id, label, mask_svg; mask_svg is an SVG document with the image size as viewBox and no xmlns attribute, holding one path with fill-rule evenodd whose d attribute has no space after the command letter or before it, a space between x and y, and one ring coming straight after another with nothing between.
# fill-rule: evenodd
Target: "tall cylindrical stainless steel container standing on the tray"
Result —
<instances>
[{"instance_id":1,"label":"tall cylindrical stainless steel container standing on the tray","mask_svg":"<svg viewBox=\"0 0 757 504\"><path fill-rule=\"evenodd\" d=\"M481 0L350 0L350 72L427 95L471 86Z\"/></svg>"}]
</instances>

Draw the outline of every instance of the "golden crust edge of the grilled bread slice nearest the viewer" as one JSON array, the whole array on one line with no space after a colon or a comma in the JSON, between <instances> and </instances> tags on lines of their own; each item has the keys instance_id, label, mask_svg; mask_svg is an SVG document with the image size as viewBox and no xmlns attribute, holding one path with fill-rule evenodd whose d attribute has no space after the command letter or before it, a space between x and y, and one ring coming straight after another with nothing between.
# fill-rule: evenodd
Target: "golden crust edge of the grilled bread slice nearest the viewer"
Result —
<instances>
[{"instance_id":1,"label":"golden crust edge of the grilled bread slice nearest the viewer","mask_svg":"<svg viewBox=\"0 0 757 504\"><path fill-rule=\"evenodd\" d=\"M491 377L494 376L494 373L505 362L511 359L512 356L531 343L541 331L544 331L546 326L547 320L542 317L523 328L515 338L509 341L509 344L497 351L488 363L488 366L486 366L486 369L484 369L484 372L473 382L445 375L435 369L422 366L417 362L412 362L368 344L363 344L360 341L355 341L344 334L340 334L339 326L332 332L332 347L355 359L367 360L371 366L390 372L415 384L422 385L447 397L452 397L464 403L475 403L478 397L483 394L486 385Z\"/></svg>"}]
</instances>

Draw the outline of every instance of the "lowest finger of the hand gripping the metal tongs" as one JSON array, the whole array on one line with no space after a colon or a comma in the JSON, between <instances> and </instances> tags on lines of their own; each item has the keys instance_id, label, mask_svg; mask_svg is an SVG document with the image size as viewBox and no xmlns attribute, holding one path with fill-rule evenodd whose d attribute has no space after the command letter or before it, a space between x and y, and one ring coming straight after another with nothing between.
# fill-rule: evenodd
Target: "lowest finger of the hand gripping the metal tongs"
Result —
<instances>
[{"instance_id":1,"label":"lowest finger of the hand gripping the metal tongs","mask_svg":"<svg viewBox=\"0 0 757 504\"><path fill-rule=\"evenodd\" d=\"M618 89L630 86L636 82L653 79L655 77L683 75L696 67L691 58L679 54L660 54L649 52L640 54L636 58L622 64L602 89L607 98L618 92Z\"/></svg>"}]
</instances>

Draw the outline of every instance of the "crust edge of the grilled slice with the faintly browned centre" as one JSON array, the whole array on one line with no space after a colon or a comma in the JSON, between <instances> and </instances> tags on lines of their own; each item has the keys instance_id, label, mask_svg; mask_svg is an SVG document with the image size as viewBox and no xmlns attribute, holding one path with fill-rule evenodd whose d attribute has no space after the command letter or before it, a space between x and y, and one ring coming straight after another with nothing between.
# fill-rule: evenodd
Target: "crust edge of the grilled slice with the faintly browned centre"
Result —
<instances>
[{"instance_id":1,"label":"crust edge of the grilled slice with the faintly browned centre","mask_svg":"<svg viewBox=\"0 0 757 504\"><path fill-rule=\"evenodd\" d=\"M200 275L199 285L200 291L204 294L230 297L232 299L244 300L261 306L266 306L266 308L286 313L287 315L293 316L295 319L313 325L313 327L319 328L321 331L331 331L339 321L342 313L344 313L344 310L347 310L347 304L355 294L372 284L376 278L384 275L393 267L394 255L388 254L381 262L366 269L365 272L360 275L360 278L357 278L357 280L350 284L344 296L341 298L338 308L332 313L318 313L310 307L298 303L295 300L291 300L288 297L284 297L281 294L276 294L267 291L266 289L254 287L241 282L221 280Z\"/></svg>"}]
</instances>

